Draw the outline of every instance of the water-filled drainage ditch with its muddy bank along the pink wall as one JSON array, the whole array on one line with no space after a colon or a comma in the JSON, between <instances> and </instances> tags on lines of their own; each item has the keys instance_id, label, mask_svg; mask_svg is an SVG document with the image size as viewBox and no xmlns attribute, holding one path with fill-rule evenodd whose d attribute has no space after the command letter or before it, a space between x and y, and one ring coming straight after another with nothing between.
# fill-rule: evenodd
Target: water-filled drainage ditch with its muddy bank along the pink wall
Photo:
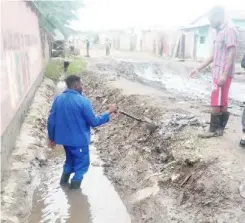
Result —
<instances>
[{"instance_id":1,"label":"water-filled drainage ditch with its muddy bank along the pink wall","mask_svg":"<svg viewBox=\"0 0 245 223\"><path fill-rule=\"evenodd\" d=\"M94 146L91 146L91 167L82 190L60 187L63 149L47 153L45 119L50 106L47 102L53 98L52 92L59 93L63 87L63 82L55 88L51 80L45 79L37 90L10 159L10 176L2 182L1 221L131 222L119 195L103 174L102 161Z\"/></svg>"}]
</instances>

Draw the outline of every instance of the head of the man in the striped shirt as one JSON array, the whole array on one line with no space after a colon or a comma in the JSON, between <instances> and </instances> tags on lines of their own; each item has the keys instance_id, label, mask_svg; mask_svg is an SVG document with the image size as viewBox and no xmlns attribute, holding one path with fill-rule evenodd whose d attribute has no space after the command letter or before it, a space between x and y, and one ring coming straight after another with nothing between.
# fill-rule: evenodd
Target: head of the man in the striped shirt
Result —
<instances>
[{"instance_id":1,"label":"head of the man in the striped shirt","mask_svg":"<svg viewBox=\"0 0 245 223\"><path fill-rule=\"evenodd\" d=\"M215 6L209 12L210 25L219 29L220 25L225 21L225 9L222 6Z\"/></svg>"}]
</instances>

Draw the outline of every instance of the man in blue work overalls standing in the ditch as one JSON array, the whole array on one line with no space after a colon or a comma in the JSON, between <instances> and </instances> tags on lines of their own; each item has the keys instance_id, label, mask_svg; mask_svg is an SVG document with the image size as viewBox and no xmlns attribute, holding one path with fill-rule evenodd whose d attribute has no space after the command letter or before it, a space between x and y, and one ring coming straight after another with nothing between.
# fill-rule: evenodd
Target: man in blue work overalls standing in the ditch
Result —
<instances>
[{"instance_id":1,"label":"man in blue work overalls standing in the ditch","mask_svg":"<svg viewBox=\"0 0 245 223\"><path fill-rule=\"evenodd\" d=\"M110 105L107 112L96 116L89 99L82 95L81 78L70 75L65 82L67 89L55 98L50 110L49 146L64 146L66 160L60 184L67 184L71 173L75 173L71 188L78 189L90 164L90 128L109 122L110 115L117 112L117 107Z\"/></svg>"}]
</instances>

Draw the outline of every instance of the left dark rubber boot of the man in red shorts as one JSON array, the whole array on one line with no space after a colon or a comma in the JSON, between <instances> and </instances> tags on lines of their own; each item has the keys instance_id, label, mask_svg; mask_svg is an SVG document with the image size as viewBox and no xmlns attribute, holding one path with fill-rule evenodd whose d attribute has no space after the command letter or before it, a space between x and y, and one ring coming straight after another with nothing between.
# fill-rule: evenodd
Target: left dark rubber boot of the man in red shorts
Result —
<instances>
[{"instance_id":1,"label":"left dark rubber boot of the man in red shorts","mask_svg":"<svg viewBox=\"0 0 245 223\"><path fill-rule=\"evenodd\" d=\"M211 138L219 136L218 129L221 127L222 114L212 113L210 117L210 126L207 132L199 133L199 138Z\"/></svg>"}]
</instances>

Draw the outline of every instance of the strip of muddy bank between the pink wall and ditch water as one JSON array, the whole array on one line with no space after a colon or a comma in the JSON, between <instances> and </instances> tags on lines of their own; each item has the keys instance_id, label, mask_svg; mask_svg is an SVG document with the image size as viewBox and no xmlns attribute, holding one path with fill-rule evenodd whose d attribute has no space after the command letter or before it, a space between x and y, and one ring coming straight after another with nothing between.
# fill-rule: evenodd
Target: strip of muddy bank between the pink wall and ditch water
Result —
<instances>
[{"instance_id":1,"label":"strip of muddy bank between the pink wall and ditch water","mask_svg":"<svg viewBox=\"0 0 245 223\"><path fill-rule=\"evenodd\" d=\"M2 222L27 222L39 174L48 164L46 117L55 84L44 79L33 99L9 160L11 168L2 180Z\"/></svg>"}]
</instances>

